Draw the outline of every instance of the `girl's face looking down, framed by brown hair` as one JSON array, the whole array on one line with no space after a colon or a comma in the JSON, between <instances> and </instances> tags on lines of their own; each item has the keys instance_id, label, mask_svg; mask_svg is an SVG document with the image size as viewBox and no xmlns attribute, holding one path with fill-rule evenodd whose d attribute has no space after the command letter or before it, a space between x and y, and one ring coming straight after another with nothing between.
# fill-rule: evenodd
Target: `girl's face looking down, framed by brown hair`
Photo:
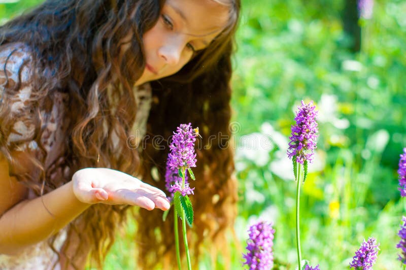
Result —
<instances>
[{"instance_id":1,"label":"girl's face looking down, framed by brown hair","mask_svg":"<svg viewBox=\"0 0 406 270\"><path fill-rule=\"evenodd\" d=\"M167 0L144 34L145 70L136 85L177 73L205 49L228 21L228 8L213 0Z\"/></svg>"}]
</instances>

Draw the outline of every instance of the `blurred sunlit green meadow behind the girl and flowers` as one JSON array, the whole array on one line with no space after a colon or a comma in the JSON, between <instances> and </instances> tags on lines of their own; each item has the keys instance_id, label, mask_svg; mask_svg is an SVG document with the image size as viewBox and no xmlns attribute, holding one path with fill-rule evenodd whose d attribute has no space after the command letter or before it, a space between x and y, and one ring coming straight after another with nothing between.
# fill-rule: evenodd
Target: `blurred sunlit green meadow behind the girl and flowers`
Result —
<instances>
[{"instance_id":1,"label":"blurred sunlit green meadow behind the girl and flowers","mask_svg":"<svg viewBox=\"0 0 406 270\"><path fill-rule=\"evenodd\" d=\"M6 2L1 23L42 1ZM406 2L375 2L370 17L358 21L348 19L344 0L242 2L232 80L241 245L252 222L272 221L278 267L295 268L296 185L286 149L300 100L314 100L320 136L302 187L302 257L321 269L348 269L362 240L373 236L381 249L374 268L400 268L395 245L405 206L396 170L406 147ZM355 2L347 3L354 10ZM360 26L359 50L345 23ZM242 268L243 250L230 245L232 269ZM119 240L106 269L133 268L134 248ZM207 258L199 268L224 267Z\"/></svg>"}]
</instances>

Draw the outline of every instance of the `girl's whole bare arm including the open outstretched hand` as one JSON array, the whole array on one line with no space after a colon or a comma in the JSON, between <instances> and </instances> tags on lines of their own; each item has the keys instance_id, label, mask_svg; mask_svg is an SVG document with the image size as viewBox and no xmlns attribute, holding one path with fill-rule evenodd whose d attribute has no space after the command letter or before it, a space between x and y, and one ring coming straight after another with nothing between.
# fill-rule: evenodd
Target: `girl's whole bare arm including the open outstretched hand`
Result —
<instances>
[{"instance_id":1,"label":"girl's whole bare arm including the open outstretched hand","mask_svg":"<svg viewBox=\"0 0 406 270\"><path fill-rule=\"evenodd\" d=\"M0 172L0 186L16 182L5 176L5 162L0 162ZM15 191L12 186L0 189L0 197L10 198ZM4 211L5 199L1 201L0 210ZM95 203L138 205L148 210L170 206L161 190L137 178L107 168L85 168L76 172L71 182L0 213L0 253L17 254L47 239Z\"/></svg>"}]
</instances>

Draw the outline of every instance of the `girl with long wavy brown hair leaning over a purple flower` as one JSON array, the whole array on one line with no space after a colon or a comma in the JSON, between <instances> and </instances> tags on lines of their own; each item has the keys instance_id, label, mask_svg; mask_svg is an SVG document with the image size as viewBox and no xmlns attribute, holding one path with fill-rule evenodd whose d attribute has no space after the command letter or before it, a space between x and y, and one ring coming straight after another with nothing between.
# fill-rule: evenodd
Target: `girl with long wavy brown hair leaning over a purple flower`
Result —
<instances>
[{"instance_id":1,"label":"girl with long wavy brown hair leaning over a purple flower","mask_svg":"<svg viewBox=\"0 0 406 270\"><path fill-rule=\"evenodd\" d=\"M0 27L0 268L101 267L129 209L141 268L175 265L173 222L147 210L170 207L167 142L156 138L183 122L203 138L194 262L205 241L225 244L236 184L221 140L239 10L239 0L48 0Z\"/></svg>"}]
</instances>

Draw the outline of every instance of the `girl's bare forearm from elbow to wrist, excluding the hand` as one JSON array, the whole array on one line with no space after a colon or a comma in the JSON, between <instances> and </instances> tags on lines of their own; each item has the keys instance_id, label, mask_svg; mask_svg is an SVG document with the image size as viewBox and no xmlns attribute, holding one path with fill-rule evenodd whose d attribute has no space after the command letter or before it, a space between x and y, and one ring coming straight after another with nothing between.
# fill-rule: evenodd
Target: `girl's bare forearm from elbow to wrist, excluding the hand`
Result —
<instances>
[{"instance_id":1,"label":"girl's bare forearm from elbow to wrist, excluding the hand","mask_svg":"<svg viewBox=\"0 0 406 270\"><path fill-rule=\"evenodd\" d=\"M0 253L16 254L47 239L89 206L76 198L72 181L42 197L21 201L0 218Z\"/></svg>"}]
</instances>

